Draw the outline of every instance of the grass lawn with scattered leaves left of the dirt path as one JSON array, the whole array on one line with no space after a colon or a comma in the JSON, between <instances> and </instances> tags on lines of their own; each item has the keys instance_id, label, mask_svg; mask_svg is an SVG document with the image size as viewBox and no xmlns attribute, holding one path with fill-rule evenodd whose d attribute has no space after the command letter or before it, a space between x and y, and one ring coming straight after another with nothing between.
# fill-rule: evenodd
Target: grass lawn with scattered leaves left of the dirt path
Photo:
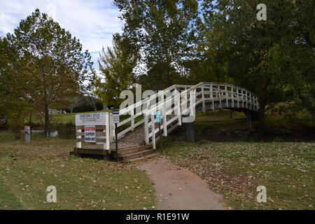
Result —
<instances>
[{"instance_id":1,"label":"grass lawn with scattered leaves left of the dirt path","mask_svg":"<svg viewBox=\"0 0 315 224\"><path fill-rule=\"evenodd\" d=\"M151 181L134 165L69 155L73 140L0 134L0 209L154 209ZM57 203L46 202L48 186Z\"/></svg>"}]
</instances>

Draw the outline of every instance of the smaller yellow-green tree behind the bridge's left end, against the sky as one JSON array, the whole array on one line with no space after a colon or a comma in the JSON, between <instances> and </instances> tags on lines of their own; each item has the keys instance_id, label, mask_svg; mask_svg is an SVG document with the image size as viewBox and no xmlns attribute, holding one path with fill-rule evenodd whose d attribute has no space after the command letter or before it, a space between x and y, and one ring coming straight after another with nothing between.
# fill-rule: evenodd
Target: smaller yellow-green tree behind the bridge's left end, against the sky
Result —
<instances>
[{"instance_id":1,"label":"smaller yellow-green tree behind the bridge's left end, against the sky","mask_svg":"<svg viewBox=\"0 0 315 224\"><path fill-rule=\"evenodd\" d=\"M130 43L119 34L113 36L113 48L108 47L99 58L99 71L95 93L108 106L116 108L122 102L120 92L134 85L134 67L138 55L130 50Z\"/></svg>"}]
</instances>

